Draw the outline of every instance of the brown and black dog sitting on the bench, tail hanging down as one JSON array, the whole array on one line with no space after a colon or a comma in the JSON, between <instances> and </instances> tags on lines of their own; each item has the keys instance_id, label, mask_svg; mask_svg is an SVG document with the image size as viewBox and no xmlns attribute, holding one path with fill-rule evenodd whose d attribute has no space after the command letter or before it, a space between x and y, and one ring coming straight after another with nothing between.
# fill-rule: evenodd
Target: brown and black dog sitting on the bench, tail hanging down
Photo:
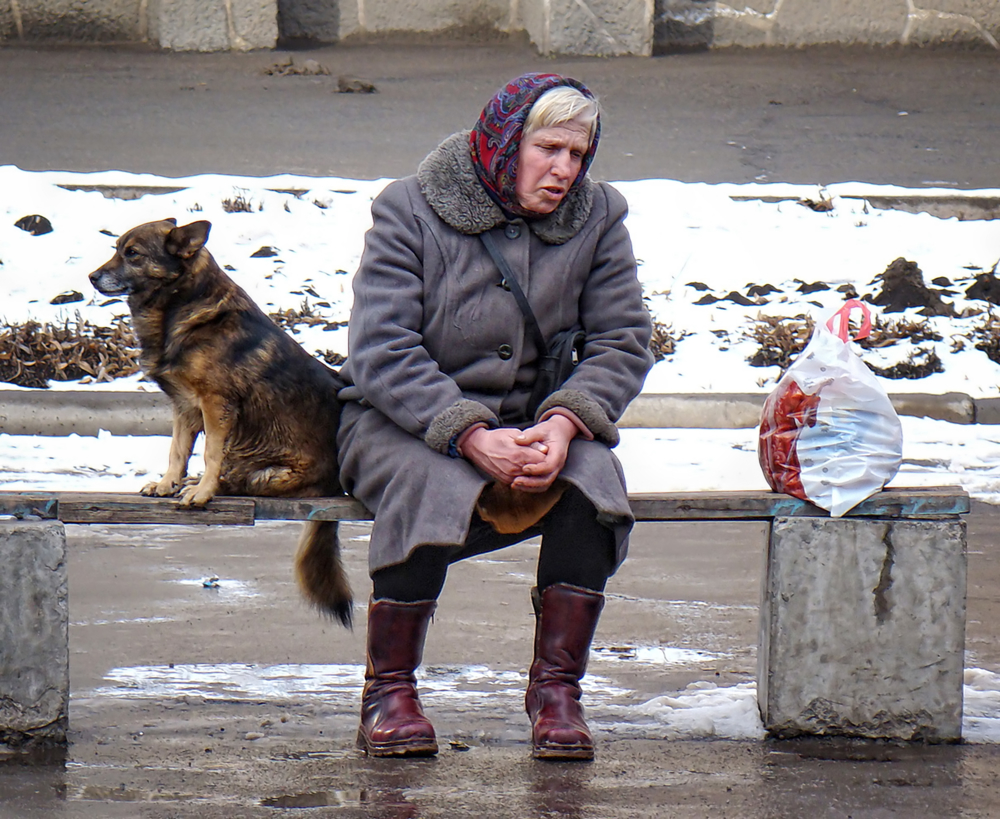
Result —
<instances>
[{"instance_id":1,"label":"brown and black dog sitting on the bench, tail hanging down","mask_svg":"<svg viewBox=\"0 0 1000 819\"><path fill-rule=\"evenodd\" d=\"M167 472L144 495L204 506L215 495L324 497L338 479L337 391L343 382L274 324L205 249L208 222L132 228L90 274L106 296L128 296L143 370L170 396ZM198 434L205 474L185 480ZM296 557L306 598L351 623L337 524L309 522Z\"/></svg>"}]
</instances>

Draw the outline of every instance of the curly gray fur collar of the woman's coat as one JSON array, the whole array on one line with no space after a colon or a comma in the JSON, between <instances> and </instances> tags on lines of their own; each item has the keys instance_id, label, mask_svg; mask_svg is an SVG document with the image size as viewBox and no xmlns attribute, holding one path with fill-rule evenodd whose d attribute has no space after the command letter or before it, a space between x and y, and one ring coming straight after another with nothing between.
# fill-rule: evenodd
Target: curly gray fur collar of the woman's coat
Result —
<instances>
[{"instance_id":1,"label":"curly gray fur collar of the woman's coat","mask_svg":"<svg viewBox=\"0 0 1000 819\"><path fill-rule=\"evenodd\" d=\"M475 235L507 221L476 177L468 131L452 134L431 151L417 168L417 181L434 212L459 233ZM586 176L555 211L525 222L546 244L564 244L586 224L594 202L594 188L594 182Z\"/></svg>"}]
</instances>

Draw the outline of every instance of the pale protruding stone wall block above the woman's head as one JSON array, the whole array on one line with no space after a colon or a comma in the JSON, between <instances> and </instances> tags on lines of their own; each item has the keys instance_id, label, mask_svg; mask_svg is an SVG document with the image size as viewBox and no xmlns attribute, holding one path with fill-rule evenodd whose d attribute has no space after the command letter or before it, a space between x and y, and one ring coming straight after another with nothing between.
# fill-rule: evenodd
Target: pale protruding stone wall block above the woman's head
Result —
<instances>
[{"instance_id":1,"label":"pale protruding stone wall block above the woman's head","mask_svg":"<svg viewBox=\"0 0 1000 819\"><path fill-rule=\"evenodd\" d=\"M544 0L521 6L541 54L614 57L653 53L653 0Z\"/></svg>"}]
</instances>

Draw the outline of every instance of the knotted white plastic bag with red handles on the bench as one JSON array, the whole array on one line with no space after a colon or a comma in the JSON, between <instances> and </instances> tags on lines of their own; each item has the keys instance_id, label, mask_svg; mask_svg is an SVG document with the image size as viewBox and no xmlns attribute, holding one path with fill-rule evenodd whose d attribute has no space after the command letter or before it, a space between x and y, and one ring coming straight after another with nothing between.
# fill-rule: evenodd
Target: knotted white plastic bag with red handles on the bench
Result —
<instances>
[{"instance_id":1,"label":"knotted white plastic bag with red handles on the bench","mask_svg":"<svg viewBox=\"0 0 1000 819\"><path fill-rule=\"evenodd\" d=\"M771 489L833 517L881 490L903 457L899 417L848 340L848 316L855 308L864 314L855 341L871 331L871 313L856 299L816 324L809 344L764 402L757 447Z\"/></svg>"}]
</instances>

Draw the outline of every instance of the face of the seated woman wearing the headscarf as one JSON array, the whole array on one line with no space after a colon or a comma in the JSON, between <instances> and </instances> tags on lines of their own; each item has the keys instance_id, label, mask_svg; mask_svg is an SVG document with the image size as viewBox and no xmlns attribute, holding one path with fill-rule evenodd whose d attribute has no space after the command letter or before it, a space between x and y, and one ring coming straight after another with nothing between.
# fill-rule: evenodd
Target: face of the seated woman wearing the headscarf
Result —
<instances>
[{"instance_id":1,"label":"face of the seated woman wearing the headscarf","mask_svg":"<svg viewBox=\"0 0 1000 819\"><path fill-rule=\"evenodd\" d=\"M552 213L576 181L590 148L590 127L577 120L539 128L521 140L514 192L534 213Z\"/></svg>"}]
</instances>

